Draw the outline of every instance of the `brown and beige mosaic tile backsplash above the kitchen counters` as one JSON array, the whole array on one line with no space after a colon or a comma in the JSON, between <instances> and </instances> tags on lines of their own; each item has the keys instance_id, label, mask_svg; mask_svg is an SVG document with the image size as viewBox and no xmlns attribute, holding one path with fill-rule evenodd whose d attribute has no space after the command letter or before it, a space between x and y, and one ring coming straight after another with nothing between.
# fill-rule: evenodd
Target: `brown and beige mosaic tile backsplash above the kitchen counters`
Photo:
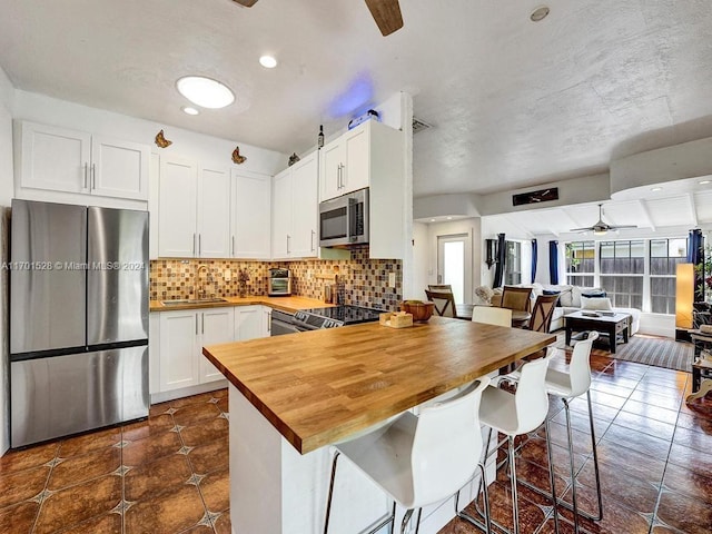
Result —
<instances>
[{"instance_id":1,"label":"brown and beige mosaic tile backsplash above the kitchen counters","mask_svg":"<svg viewBox=\"0 0 712 534\"><path fill-rule=\"evenodd\" d=\"M151 300L194 298L202 290L207 296L236 297L238 275L247 269L248 295L266 295L270 268L291 269L291 294L322 298L324 285L333 281L320 276L338 275L344 283L344 304L375 306L395 310L403 299L403 264L399 259L369 259L368 247L352 249L349 260L240 261L228 259L157 259L151 260ZM198 268L200 285L197 286ZM396 287L388 287L388 274L396 274Z\"/></svg>"}]
</instances>

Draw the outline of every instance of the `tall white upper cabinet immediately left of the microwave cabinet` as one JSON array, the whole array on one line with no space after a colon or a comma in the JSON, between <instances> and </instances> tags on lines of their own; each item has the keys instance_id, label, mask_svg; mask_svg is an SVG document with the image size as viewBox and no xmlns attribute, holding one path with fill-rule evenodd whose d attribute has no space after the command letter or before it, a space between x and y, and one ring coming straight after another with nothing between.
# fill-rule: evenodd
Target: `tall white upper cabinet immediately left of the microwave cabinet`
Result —
<instances>
[{"instance_id":1,"label":"tall white upper cabinet immediately left of the microwave cabinet","mask_svg":"<svg viewBox=\"0 0 712 534\"><path fill-rule=\"evenodd\" d=\"M306 156L273 180L273 257L318 255L317 152Z\"/></svg>"}]
</instances>

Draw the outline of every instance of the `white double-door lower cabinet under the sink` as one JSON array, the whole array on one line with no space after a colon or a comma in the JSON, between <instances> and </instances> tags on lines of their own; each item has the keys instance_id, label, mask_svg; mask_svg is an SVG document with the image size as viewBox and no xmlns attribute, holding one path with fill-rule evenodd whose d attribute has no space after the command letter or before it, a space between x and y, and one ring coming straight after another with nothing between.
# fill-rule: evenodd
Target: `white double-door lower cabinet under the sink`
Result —
<instances>
[{"instance_id":1,"label":"white double-door lower cabinet under the sink","mask_svg":"<svg viewBox=\"0 0 712 534\"><path fill-rule=\"evenodd\" d=\"M159 392L221 379L202 346L235 339L233 308L161 312L159 319Z\"/></svg>"}]
</instances>

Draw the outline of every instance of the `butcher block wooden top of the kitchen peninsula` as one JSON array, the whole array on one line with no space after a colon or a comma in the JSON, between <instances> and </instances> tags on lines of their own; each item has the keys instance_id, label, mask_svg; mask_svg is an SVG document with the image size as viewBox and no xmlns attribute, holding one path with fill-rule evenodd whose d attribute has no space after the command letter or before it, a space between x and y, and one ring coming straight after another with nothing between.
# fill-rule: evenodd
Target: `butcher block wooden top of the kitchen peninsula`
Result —
<instances>
[{"instance_id":1,"label":"butcher block wooden top of the kitchen peninsula","mask_svg":"<svg viewBox=\"0 0 712 534\"><path fill-rule=\"evenodd\" d=\"M202 354L305 454L555 340L551 334L432 317L411 328L366 323L211 345Z\"/></svg>"}]
</instances>

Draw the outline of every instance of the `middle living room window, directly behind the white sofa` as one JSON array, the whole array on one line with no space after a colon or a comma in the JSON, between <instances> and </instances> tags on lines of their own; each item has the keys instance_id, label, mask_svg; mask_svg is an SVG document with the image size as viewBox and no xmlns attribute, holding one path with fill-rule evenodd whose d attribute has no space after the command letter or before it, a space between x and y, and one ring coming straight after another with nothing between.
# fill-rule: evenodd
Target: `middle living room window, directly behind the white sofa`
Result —
<instances>
[{"instance_id":1,"label":"middle living room window, directly behind the white sofa","mask_svg":"<svg viewBox=\"0 0 712 534\"><path fill-rule=\"evenodd\" d=\"M601 241L599 250L601 287L613 306L642 309L645 241Z\"/></svg>"}]
</instances>

